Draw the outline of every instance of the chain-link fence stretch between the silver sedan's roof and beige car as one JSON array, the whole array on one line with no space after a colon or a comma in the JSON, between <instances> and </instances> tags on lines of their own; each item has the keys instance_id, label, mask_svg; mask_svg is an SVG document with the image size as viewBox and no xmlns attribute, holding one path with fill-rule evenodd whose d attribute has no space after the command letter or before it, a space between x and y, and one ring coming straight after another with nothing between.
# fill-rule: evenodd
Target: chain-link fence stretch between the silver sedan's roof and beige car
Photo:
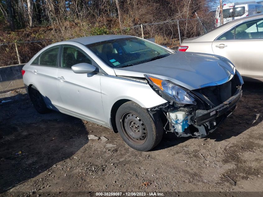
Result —
<instances>
[{"instance_id":1,"label":"chain-link fence stretch between the silver sedan's roof and beige car","mask_svg":"<svg viewBox=\"0 0 263 197\"><path fill-rule=\"evenodd\" d=\"M137 25L124 28L124 31L127 35L154 38L157 44L176 50L182 40L203 35L214 28L214 20L180 19Z\"/></svg>"}]
</instances>

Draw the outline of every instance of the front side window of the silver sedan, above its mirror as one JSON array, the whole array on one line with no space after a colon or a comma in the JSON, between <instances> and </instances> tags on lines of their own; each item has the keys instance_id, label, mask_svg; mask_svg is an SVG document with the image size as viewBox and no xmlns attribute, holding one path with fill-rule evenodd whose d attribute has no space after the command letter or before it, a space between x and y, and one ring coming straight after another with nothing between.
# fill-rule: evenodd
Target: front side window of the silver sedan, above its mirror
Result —
<instances>
[{"instance_id":1,"label":"front side window of the silver sedan, above its mirror","mask_svg":"<svg viewBox=\"0 0 263 197\"><path fill-rule=\"evenodd\" d=\"M92 59L74 47L64 46L62 51L61 67L71 68L77 63L92 64Z\"/></svg>"}]
</instances>

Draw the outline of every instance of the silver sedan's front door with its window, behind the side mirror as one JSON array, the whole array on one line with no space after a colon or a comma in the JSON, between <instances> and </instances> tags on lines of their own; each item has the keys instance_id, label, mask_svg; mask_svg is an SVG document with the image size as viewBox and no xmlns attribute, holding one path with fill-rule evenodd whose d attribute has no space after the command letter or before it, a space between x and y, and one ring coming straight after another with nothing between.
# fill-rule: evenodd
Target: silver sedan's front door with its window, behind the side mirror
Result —
<instances>
[{"instance_id":1,"label":"silver sedan's front door with its window, behind the side mirror","mask_svg":"<svg viewBox=\"0 0 263 197\"><path fill-rule=\"evenodd\" d=\"M100 73L96 63L82 49L73 45L63 45L59 59L57 80L61 110L79 118L104 123ZM71 66L78 63L92 64L97 67L97 71L74 73Z\"/></svg>"}]
</instances>

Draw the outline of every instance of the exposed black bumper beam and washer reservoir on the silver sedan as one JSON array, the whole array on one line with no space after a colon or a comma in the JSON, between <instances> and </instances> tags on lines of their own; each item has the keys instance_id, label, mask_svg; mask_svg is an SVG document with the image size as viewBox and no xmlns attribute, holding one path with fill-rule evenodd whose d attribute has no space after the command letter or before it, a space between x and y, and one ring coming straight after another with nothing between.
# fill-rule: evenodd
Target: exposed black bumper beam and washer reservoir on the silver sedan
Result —
<instances>
[{"instance_id":1,"label":"exposed black bumper beam and washer reservoir on the silver sedan","mask_svg":"<svg viewBox=\"0 0 263 197\"><path fill-rule=\"evenodd\" d=\"M231 85L231 84L229 84ZM177 137L196 137L203 138L209 133L213 132L218 126L230 116L236 109L237 102L242 96L242 86L237 86L235 93L232 94L223 103L217 106L210 102L210 109L200 109L199 106L195 107L181 107L174 108L171 105L167 107L166 116L169 122L169 126L165 126L166 131L174 132ZM196 91L193 91L196 93ZM205 101L205 96L203 96L203 104L208 105L209 101ZM207 97L206 97L207 98ZM206 107L208 108L208 106ZM212 109L211 109L212 108Z\"/></svg>"}]
</instances>

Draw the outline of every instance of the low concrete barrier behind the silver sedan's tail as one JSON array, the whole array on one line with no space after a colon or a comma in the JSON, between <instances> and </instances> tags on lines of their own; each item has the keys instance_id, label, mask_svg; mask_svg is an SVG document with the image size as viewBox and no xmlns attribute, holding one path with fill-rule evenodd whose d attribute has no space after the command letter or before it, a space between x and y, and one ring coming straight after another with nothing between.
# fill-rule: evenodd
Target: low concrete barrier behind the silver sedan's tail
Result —
<instances>
[{"instance_id":1,"label":"low concrete barrier behind the silver sedan's tail","mask_svg":"<svg viewBox=\"0 0 263 197\"><path fill-rule=\"evenodd\" d=\"M21 70L25 64L0 67L0 93L24 87Z\"/></svg>"}]
</instances>

